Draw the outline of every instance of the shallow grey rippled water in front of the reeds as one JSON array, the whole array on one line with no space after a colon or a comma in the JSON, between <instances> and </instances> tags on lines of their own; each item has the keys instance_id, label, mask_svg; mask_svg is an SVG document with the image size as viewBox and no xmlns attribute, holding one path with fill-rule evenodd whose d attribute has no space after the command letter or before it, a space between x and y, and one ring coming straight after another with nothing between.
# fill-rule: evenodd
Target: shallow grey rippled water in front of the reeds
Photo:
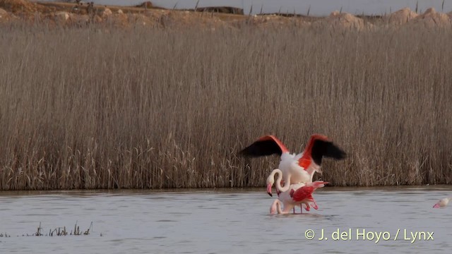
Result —
<instances>
[{"instance_id":1,"label":"shallow grey rippled water in front of the reeds","mask_svg":"<svg viewBox=\"0 0 452 254\"><path fill-rule=\"evenodd\" d=\"M288 215L269 214L273 198L263 188L4 191L0 234L11 237L0 237L0 253L448 253L452 207L432 206L451 189L323 188L314 193L319 210ZM91 222L93 228L88 236L23 236L40 222L44 234L59 226L71 231L76 222L81 231ZM319 240L322 229L328 240ZM333 240L344 231L351 235ZM381 232L379 242L369 231ZM425 233L411 243L410 232L418 231Z\"/></svg>"}]
</instances>

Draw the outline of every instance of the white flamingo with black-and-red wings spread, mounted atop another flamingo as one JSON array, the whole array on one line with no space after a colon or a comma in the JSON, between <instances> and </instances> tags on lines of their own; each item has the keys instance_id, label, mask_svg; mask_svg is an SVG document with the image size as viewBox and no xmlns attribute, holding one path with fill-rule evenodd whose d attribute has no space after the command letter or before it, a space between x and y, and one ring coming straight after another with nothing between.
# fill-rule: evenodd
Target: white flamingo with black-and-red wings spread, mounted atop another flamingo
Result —
<instances>
[{"instance_id":1,"label":"white flamingo with black-and-red wings spread, mounted atop another flamingo","mask_svg":"<svg viewBox=\"0 0 452 254\"><path fill-rule=\"evenodd\" d=\"M290 154L287 147L274 135L264 135L254 143L239 152L247 157L261 157L266 155L280 155L278 168L282 171L284 186L277 191L285 192L290 188L290 184L311 183L314 172L321 173L320 166L323 157L333 159L344 159L345 152L334 145L325 135L314 134L309 138L309 142L302 153ZM267 182L267 193L271 193L273 182Z\"/></svg>"}]
</instances>

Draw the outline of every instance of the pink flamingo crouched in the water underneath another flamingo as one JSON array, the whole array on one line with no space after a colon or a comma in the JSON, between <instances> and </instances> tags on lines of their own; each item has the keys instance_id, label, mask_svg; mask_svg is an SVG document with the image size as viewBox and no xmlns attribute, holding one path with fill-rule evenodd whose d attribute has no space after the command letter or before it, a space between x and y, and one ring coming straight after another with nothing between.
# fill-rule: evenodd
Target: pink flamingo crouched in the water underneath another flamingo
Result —
<instances>
[{"instance_id":1,"label":"pink flamingo crouched in the water underneath another flamingo","mask_svg":"<svg viewBox=\"0 0 452 254\"><path fill-rule=\"evenodd\" d=\"M309 207L311 202L314 202L314 205L311 206L315 210L319 209L319 206L312 197L312 193L314 193L317 188L325 186L325 184L327 184L327 182L315 181L307 183L306 185L304 183L295 183L290 185L290 191L281 193L278 199L273 201L270 206L270 214L274 214L275 212L278 212L278 214L288 214L290 210L295 208L295 206L299 205L302 207L303 204L306 205L304 209L309 211L311 210ZM281 209L281 206L283 206L283 209Z\"/></svg>"}]
</instances>

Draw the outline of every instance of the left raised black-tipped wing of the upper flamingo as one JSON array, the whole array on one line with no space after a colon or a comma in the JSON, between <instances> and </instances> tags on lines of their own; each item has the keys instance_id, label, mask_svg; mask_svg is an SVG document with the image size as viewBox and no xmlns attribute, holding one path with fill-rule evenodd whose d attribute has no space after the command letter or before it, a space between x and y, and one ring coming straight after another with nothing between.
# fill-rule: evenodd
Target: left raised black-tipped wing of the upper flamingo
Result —
<instances>
[{"instance_id":1,"label":"left raised black-tipped wing of the upper flamingo","mask_svg":"<svg viewBox=\"0 0 452 254\"><path fill-rule=\"evenodd\" d=\"M239 154L247 157L261 157L267 155L282 155L283 152L289 152L285 145L274 135L265 135L256 142L244 148Z\"/></svg>"}]
</instances>

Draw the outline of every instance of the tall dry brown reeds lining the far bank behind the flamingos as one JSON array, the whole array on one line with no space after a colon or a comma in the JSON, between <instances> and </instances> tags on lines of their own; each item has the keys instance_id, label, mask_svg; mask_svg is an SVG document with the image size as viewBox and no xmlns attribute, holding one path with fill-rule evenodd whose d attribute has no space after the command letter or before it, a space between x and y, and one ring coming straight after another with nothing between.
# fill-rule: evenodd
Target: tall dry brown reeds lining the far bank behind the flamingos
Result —
<instances>
[{"instance_id":1,"label":"tall dry brown reeds lining the far bank behind the flamingos","mask_svg":"<svg viewBox=\"0 0 452 254\"><path fill-rule=\"evenodd\" d=\"M0 189L263 186L311 133L335 186L452 182L450 30L0 27ZM6 50L5 50L6 49Z\"/></svg>"}]
</instances>

